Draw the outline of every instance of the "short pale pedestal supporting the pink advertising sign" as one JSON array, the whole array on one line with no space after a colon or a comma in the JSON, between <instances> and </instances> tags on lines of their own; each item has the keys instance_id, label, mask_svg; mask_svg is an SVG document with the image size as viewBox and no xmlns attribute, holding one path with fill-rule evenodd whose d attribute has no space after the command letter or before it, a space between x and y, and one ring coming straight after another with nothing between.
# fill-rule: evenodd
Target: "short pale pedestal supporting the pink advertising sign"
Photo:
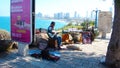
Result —
<instances>
[{"instance_id":1,"label":"short pale pedestal supporting the pink advertising sign","mask_svg":"<svg viewBox=\"0 0 120 68\"><path fill-rule=\"evenodd\" d=\"M21 56L27 56L28 55L28 44L25 43L18 43L18 54Z\"/></svg>"}]
</instances>

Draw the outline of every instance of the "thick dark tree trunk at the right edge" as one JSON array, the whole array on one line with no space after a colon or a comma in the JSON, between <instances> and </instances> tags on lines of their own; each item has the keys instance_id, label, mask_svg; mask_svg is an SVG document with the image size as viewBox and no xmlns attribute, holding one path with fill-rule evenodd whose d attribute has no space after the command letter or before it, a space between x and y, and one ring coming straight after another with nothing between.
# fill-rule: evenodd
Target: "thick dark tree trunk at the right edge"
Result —
<instances>
[{"instance_id":1,"label":"thick dark tree trunk at the right edge","mask_svg":"<svg viewBox=\"0 0 120 68\"><path fill-rule=\"evenodd\" d=\"M113 31L108 45L105 63L120 68L120 0L114 0Z\"/></svg>"}]
</instances>

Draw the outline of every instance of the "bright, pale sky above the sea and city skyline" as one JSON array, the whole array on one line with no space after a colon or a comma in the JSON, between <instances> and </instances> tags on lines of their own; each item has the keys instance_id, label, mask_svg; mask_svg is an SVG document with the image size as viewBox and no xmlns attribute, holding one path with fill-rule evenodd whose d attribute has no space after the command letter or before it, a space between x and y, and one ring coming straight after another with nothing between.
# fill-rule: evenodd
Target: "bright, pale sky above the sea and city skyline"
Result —
<instances>
[{"instance_id":1,"label":"bright, pale sky above the sea and city skyline","mask_svg":"<svg viewBox=\"0 0 120 68\"><path fill-rule=\"evenodd\" d=\"M113 11L113 0L36 0L36 14L53 16L54 13L63 12L74 15L76 11L81 17L91 15L93 10ZM10 0L2 0L0 16L10 16Z\"/></svg>"}]
</instances>

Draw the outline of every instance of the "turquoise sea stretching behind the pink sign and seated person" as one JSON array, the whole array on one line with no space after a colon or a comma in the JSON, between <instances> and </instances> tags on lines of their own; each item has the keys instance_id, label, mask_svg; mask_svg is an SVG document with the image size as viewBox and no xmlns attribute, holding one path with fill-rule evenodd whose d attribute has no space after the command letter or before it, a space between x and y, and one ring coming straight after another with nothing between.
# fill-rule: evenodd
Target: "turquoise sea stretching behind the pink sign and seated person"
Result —
<instances>
[{"instance_id":1,"label":"turquoise sea stretching behind the pink sign and seated person","mask_svg":"<svg viewBox=\"0 0 120 68\"><path fill-rule=\"evenodd\" d=\"M55 19L40 19L35 18L35 29L44 28L47 29L52 21L55 21L55 29L59 29L67 25L65 21L55 20ZM11 31L10 17L0 17L0 29Z\"/></svg>"}]
</instances>

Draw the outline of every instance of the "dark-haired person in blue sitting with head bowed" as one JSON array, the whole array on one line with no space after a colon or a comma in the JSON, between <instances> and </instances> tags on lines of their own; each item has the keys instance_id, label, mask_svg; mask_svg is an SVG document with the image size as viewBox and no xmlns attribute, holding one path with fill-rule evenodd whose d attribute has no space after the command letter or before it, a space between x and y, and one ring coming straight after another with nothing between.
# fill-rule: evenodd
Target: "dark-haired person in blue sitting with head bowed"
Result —
<instances>
[{"instance_id":1,"label":"dark-haired person in blue sitting with head bowed","mask_svg":"<svg viewBox=\"0 0 120 68\"><path fill-rule=\"evenodd\" d=\"M47 34L49 38L57 40L57 45L58 45L57 48L61 49L60 46L61 46L62 38L58 35L58 32L54 30L54 26L55 26L55 22L52 21L50 26L48 27Z\"/></svg>"}]
</instances>

